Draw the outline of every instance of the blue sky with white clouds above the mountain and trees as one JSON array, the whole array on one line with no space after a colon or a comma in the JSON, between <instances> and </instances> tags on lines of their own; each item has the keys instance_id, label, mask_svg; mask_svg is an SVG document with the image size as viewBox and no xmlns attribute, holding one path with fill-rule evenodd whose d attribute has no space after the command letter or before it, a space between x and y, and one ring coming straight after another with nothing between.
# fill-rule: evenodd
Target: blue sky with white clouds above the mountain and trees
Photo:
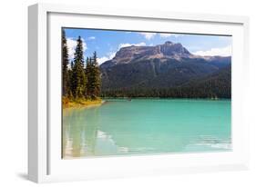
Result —
<instances>
[{"instance_id":1,"label":"blue sky with white clouds above the mountain and trees","mask_svg":"<svg viewBox=\"0 0 256 187\"><path fill-rule=\"evenodd\" d=\"M198 55L231 55L231 36L203 34L163 34L97 29L65 28L69 58L74 57L76 40L80 35L84 42L85 57L97 51L98 63L111 59L118 49L129 45L156 45L166 41L180 43L190 53Z\"/></svg>"}]
</instances>

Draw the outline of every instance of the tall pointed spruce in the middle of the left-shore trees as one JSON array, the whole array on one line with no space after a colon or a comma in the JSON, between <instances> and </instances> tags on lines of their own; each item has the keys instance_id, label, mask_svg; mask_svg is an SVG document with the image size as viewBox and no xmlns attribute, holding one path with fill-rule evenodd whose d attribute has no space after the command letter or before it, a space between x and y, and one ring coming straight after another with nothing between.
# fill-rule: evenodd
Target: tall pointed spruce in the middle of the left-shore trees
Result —
<instances>
[{"instance_id":1,"label":"tall pointed spruce in the middle of the left-shore trees","mask_svg":"<svg viewBox=\"0 0 256 187\"><path fill-rule=\"evenodd\" d=\"M72 94L78 98L86 96L87 77L84 70L84 54L83 54L83 41L81 36L78 36L77 47L74 57L74 66L72 73Z\"/></svg>"}]
</instances>

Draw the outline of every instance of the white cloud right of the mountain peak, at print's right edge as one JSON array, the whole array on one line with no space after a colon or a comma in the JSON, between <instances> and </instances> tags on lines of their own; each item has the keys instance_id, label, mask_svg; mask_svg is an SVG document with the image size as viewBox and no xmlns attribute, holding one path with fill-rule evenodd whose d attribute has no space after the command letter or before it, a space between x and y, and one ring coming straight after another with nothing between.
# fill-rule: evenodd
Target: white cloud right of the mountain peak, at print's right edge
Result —
<instances>
[{"instance_id":1,"label":"white cloud right of the mountain peak, at print's right edge","mask_svg":"<svg viewBox=\"0 0 256 187\"><path fill-rule=\"evenodd\" d=\"M231 45L222 47L222 48L211 48L208 51L197 51L197 52L194 52L193 54L203 55L203 56L213 56L213 55L230 56Z\"/></svg>"}]
</instances>

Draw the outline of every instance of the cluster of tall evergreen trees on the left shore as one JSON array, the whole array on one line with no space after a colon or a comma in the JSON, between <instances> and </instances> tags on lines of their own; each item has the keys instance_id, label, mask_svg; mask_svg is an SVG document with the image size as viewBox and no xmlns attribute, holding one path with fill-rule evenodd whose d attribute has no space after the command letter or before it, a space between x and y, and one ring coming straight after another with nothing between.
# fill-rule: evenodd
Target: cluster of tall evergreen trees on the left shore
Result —
<instances>
[{"instance_id":1,"label":"cluster of tall evergreen trees on the left shore","mask_svg":"<svg viewBox=\"0 0 256 187\"><path fill-rule=\"evenodd\" d=\"M63 103L98 100L100 96L100 71L97 53L84 60L83 41L77 38L77 47L69 65L67 38L62 31L62 96Z\"/></svg>"}]
</instances>

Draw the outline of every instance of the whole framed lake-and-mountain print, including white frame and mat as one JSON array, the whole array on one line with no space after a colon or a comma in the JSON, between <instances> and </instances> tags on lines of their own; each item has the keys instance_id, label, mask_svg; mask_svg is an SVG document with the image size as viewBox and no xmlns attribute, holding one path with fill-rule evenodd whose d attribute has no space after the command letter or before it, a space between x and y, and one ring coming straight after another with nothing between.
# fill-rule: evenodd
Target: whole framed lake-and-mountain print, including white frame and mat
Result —
<instances>
[{"instance_id":1,"label":"whole framed lake-and-mountain print, including white frame and mat","mask_svg":"<svg viewBox=\"0 0 256 187\"><path fill-rule=\"evenodd\" d=\"M247 17L28 12L31 181L248 168Z\"/></svg>"}]
</instances>

